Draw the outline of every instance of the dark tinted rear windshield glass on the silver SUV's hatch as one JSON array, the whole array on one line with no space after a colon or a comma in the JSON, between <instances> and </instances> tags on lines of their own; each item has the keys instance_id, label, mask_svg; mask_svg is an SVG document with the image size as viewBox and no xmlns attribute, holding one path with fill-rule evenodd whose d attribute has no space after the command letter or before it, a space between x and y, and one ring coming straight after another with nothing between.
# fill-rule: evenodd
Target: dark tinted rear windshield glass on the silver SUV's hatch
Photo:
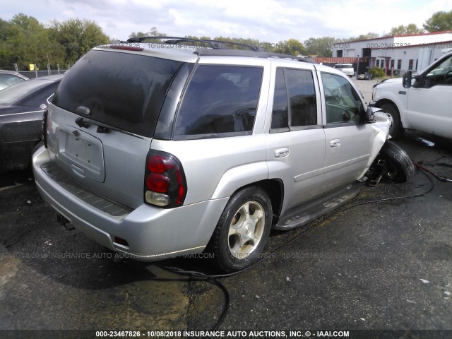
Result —
<instances>
[{"instance_id":1,"label":"dark tinted rear windshield glass on the silver SUV's hatch","mask_svg":"<svg viewBox=\"0 0 452 339\"><path fill-rule=\"evenodd\" d=\"M61 81L53 103L141 136L152 137L160 108L181 61L92 50ZM83 115L83 114L79 114Z\"/></svg>"}]
</instances>

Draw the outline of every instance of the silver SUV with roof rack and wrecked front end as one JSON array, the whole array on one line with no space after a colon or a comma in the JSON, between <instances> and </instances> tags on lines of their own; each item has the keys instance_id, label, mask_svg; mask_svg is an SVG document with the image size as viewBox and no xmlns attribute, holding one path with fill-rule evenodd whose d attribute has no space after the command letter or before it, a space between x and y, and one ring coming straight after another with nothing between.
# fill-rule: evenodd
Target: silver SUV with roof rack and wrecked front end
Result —
<instances>
[{"instance_id":1,"label":"silver SUV with roof rack and wrecked front end","mask_svg":"<svg viewBox=\"0 0 452 339\"><path fill-rule=\"evenodd\" d=\"M357 179L412 174L386 142L386 114L342 72L165 39L92 49L44 114L37 188L99 244L143 261L210 251L240 270L262 255L270 228L339 206Z\"/></svg>"}]
</instances>

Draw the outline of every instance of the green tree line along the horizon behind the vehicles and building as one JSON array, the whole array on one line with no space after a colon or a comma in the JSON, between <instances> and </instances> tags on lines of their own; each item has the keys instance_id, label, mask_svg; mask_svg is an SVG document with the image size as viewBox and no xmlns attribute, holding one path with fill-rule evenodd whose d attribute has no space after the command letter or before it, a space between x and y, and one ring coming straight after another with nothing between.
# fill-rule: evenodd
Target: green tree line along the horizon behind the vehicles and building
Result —
<instances>
[{"instance_id":1,"label":"green tree line along the horizon behind the vehicles and building","mask_svg":"<svg viewBox=\"0 0 452 339\"><path fill-rule=\"evenodd\" d=\"M422 32L441 32L452 30L452 11L439 11L427 19L422 28L415 24L393 27L387 35L417 34ZM149 32L131 32L129 37L166 36L156 27ZM269 52L291 55L315 55L331 57L333 44L366 40L380 37L369 32L358 37L338 39L335 37L311 37L304 42L291 38L279 42L265 42L256 39L234 37L196 37L186 35L187 38L203 40L220 40L249 44L263 47ZM66 69L74 64L91 48L110 41L95 21L69 19L63 22L53 20L47 27L36 18L19 13L9 21L0 18L0 69L13 69L17 64L19 71L28 70L30 64L36 64L40 69L47 65L56 69Z\"/></svg>"}]
</instances>

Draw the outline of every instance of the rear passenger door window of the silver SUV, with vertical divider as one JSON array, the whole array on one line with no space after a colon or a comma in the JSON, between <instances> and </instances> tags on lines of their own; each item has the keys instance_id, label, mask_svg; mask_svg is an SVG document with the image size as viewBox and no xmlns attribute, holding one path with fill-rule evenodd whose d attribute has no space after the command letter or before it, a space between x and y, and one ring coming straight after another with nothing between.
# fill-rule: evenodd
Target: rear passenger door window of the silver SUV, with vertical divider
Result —
<instances>
[{"instance_id":1,"label":"rear passenger door window of the silver SUV, with vertical divider","mask_svg":"<svg viewBox=\"0 0 452 339\"><path fill-rule=\"evenodd\" d=\"M272 129L317 124L317 102L311 71L277 69Z\"/></svg>"}]
</instances>

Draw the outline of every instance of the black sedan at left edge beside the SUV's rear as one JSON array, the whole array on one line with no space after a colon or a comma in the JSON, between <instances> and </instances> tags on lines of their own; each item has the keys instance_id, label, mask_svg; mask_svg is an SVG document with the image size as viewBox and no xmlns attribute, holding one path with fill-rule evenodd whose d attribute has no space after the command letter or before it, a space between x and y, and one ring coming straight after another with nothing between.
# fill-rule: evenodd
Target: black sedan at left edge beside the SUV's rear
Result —
<instances>
[{"instance_id":1,"label":"black sedan at left edge beside the SUV's rear","mask_svg":"<svg viewBox=\"0 0 452 339\"><path fill-rule=\"evenodd\" d=\"M0 171L31 165L42 138L42 112L63 76L43 76L0 91Z\"/></svg>"}]
</instances>

